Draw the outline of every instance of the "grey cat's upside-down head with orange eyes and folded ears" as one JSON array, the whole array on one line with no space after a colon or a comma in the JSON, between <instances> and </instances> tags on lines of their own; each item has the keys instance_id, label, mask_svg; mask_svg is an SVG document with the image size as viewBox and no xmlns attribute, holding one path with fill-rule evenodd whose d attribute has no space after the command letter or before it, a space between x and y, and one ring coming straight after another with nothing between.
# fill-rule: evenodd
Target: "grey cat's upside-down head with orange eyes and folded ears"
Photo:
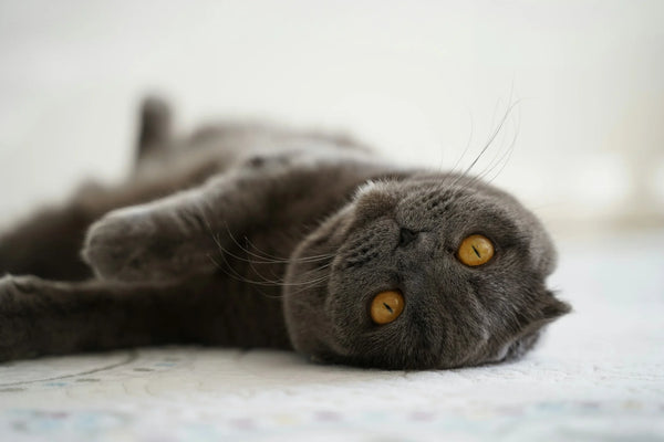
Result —
<instances>
[{"instance_id":1,"label":"grey cat's upside-down head with orange eyes and folded ears","mask_svg":"<svg viewBox=\"0 0 664 442\"><path fill-rule=\"evenodd\" d=\"M300 244L284 288L295 349L381 368L478 365L520 356L569 312L544 285L556 254L539 221L507 193L457 178L367 183ZM475 234L492 256L469 265L459 249ZM403 311L385 305L394 315L376 320L384 292Z\"/></svg>"}]
</instances>

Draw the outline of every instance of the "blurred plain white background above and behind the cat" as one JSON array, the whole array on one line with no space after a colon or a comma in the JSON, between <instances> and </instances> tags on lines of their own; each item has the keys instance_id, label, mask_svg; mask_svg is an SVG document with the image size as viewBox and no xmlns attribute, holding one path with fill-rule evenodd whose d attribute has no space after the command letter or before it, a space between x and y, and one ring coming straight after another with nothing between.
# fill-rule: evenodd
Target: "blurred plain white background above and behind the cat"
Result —
<instances>
[{"instance_id":1,"label":"blurred plain white background above and behind the cat","mask_svg":"<svg viewBox=\"0 0 664 442\"><path fill-rule=\"evenodd\" d=\"M270 118L473 171L558 236L664 228L664 2L0 2L0 223L178 127ZM511 109L508 112L508 109Z\"/></svg>"}]
</instances>

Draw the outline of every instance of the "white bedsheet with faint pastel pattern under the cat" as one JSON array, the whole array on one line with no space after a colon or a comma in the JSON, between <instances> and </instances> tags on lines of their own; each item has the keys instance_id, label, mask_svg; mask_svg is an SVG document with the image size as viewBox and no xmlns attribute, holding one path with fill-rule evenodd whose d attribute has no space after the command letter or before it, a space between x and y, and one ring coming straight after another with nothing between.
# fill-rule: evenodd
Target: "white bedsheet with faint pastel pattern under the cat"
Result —
<instances>
[{"instance_id":1,"label":"white bedsheet with faint pastel pattern under the cat","mask_svg":"<svg viewBox=\"0 0 664 442\"><path fill-rule=\"evenodd\" d=\"M0 365L0 441L664 440L664 232L567 241L551 283L574 313L507 365L196 347Z\"/></svg>"}]
</instances>

